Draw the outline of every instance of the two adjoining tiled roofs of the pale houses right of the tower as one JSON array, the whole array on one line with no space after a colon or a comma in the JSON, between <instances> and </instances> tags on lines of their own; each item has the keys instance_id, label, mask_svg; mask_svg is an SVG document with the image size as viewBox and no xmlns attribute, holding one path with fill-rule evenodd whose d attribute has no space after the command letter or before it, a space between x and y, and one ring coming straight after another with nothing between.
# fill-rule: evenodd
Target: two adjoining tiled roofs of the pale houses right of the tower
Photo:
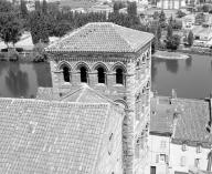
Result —
<instances>
[{"instance_id":1,"label":"two adjoining tiled roofs of the pale houses right of the tower","mask_svg":"<svg viewBox=\"0 0 212 174\"><path fill-rule=\"evenodd\" d=\"M160 96L158 96L160 98ZM166 99L166 98L163 98ZM167 101L156 98L151 99L150 133L173 133L172 142L187 142L195 145L201 143L203 146L212 144L212 134L206 132L210 120L209 102L204 100L177 99ZM180 109L177 124L173 127L173 113L176 108Z\"/></svg>"}]
</instances>

